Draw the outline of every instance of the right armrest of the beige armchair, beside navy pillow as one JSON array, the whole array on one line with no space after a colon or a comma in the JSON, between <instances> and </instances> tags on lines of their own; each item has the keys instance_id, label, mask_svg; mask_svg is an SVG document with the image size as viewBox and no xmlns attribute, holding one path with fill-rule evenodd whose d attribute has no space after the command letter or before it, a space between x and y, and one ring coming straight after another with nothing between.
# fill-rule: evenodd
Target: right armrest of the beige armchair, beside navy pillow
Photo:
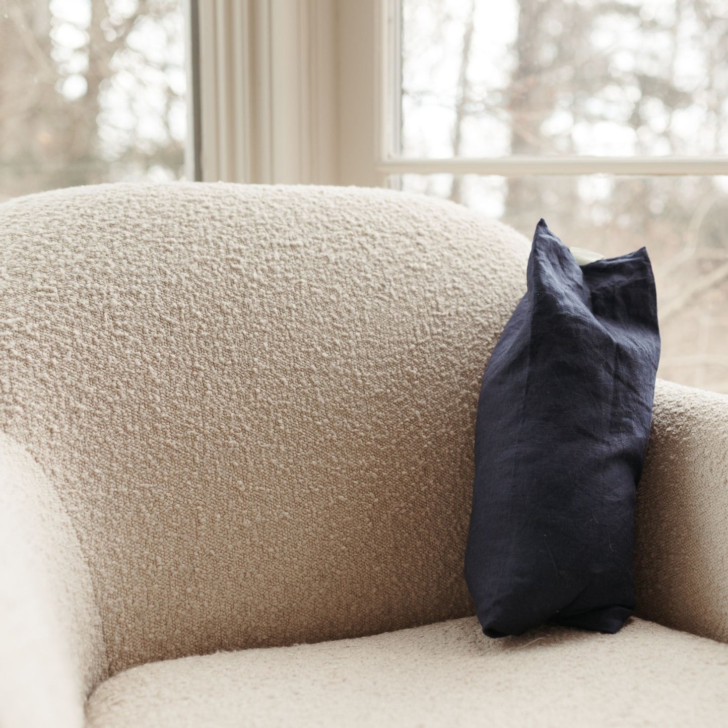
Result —
<instances>
[{"instance_id":1,"label":"right armrest of the beige armchair, beside navy pillow","mask_svg":"<svg viewBox=\"0 0 728 728\"><path fill-rule=\"evenodd\" d=\"M657 380L637 489L637 614L728 642L728 397Z\"/></svg>"}]
</instances>

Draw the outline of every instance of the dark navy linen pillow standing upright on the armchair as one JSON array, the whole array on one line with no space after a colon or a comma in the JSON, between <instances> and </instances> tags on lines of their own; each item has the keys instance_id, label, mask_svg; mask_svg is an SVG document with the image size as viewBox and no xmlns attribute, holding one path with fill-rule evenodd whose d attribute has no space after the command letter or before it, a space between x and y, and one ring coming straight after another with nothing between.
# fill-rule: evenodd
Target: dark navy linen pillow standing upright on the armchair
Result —
<instances>
[{"instance_id":1,"label":"dark navy linen pillow standing upright on the armchair","mask_svg":"<svg viewBox=\"0 0 728 728\"><path fill-rule=\"evenodd\" d=\"M645 248L579 266L540 221L480 388L465 578L483 632L614 633L634 611L636 486L660 333Z\"/></svg>"}]
</instances>

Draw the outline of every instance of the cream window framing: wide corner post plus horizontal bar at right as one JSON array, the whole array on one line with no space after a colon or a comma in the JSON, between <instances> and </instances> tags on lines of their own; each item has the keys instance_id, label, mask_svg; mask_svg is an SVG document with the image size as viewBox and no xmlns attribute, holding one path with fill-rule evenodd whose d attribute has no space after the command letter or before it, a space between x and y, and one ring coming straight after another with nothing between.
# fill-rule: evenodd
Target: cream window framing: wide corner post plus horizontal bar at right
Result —
<instances>
[{"instance_id":1,"label":"cream window framing: wide corner post plus horizontal bar at right","mask_svg":"<svg viewBox=\"0 0 728 728\"><path fill-rule=\"evenodd\" d=\"M183 0L189 178L396 186L397 175L728 175L714 157L403 157L401 0Z\"/></svg>"}]
</instances>

